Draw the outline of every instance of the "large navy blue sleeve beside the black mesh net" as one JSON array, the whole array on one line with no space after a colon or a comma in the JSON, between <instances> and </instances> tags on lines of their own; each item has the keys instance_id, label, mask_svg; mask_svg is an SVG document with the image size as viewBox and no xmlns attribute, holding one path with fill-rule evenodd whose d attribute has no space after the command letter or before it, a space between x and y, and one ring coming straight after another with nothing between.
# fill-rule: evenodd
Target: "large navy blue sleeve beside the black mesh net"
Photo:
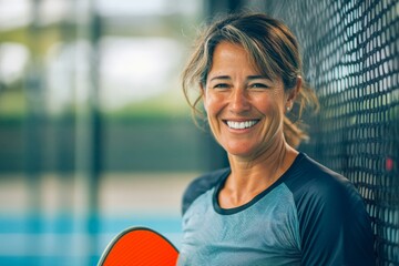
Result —
<instances>
[{"instance_id":1,"label":"large navy blue sleeve beside the black mesh net","mask_svg":"<svg viewBox=\"0 0 399 266\"><path fill-rule=\"evenodd\" d=\"M376 265L370 219L347 178L306 157L287 185L297 205L303 265Z\"/></svg>"}]
</instances>

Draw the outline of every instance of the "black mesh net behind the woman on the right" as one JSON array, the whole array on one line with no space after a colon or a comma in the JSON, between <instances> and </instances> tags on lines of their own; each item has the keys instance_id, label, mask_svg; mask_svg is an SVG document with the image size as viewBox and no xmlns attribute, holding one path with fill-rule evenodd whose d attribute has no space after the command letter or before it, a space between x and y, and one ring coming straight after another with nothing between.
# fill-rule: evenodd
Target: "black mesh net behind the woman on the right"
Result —
<instances>
[{"instance_id":1,"label":"black mesh net behind the woman on the right","mask_svg":"<svg viewBox=\"0 0 399 266\"><path fill-rule=\"evenodd\" d=\"M372 219L378 265L399 265L399 2L260 4L298 37L320 100L300 150L355 183Z\"/></svg>"}]
</instances>

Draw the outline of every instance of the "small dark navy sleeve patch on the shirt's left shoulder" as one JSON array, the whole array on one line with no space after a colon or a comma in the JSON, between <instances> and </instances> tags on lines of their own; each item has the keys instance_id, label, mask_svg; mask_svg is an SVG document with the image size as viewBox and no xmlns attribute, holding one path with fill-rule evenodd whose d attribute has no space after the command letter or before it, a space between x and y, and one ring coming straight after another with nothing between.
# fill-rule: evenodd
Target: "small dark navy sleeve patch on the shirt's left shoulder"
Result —
<instances>
[{"instance_id":1,"label":"small dark navy sleeve patch on the shirt's left shoulder","mask_svg":"<svg viewBox=\"0 0 399 266\"><path fill-rule=\"evenodd\" d=\"M231 172L229 167L216 170L193 180L183 194L182 213L202 194L215 187Z\"/></svg>"}]
</instances>

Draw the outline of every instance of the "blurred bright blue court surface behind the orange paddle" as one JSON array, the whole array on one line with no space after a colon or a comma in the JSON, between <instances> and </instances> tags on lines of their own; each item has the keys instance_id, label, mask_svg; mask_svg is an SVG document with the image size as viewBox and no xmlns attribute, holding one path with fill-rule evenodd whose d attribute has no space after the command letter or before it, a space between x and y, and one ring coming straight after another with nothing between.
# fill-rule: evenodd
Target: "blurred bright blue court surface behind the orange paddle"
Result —
<instances>
[{"instance_id":1,"label":"blurred bright blue court surface behind the orange paddle","mask_svg":"<svg viewBox=\"0 0 399 266\"><path fill-rule=\"evenodd\" d=\"M126 217L73 218L4 216L0 218L1 266L96 265L108 243L130 226L146 226L165 235L175 246L181 241L178 216L130 215Z\"/></svg>"}]
</instances>

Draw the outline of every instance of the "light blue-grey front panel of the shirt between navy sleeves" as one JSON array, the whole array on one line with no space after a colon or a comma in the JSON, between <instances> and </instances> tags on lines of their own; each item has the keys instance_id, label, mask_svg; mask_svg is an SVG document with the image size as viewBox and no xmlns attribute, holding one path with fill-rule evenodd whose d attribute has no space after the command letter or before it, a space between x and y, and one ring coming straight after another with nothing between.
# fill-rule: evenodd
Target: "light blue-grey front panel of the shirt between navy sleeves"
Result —
<instances>
[{"instance_id":1,"label":"light blue-grey front panel of the shirt between navy sleeves","mask_svg":"<svg viewBox=\"0 0 399 266\"><path fill-rule=\"evenodd\" d=\"M214 193L200 196L183 217L178 265L300 265L298 218L285 184L232 214L214 208Z\"/></svg>"}]
</instances>

